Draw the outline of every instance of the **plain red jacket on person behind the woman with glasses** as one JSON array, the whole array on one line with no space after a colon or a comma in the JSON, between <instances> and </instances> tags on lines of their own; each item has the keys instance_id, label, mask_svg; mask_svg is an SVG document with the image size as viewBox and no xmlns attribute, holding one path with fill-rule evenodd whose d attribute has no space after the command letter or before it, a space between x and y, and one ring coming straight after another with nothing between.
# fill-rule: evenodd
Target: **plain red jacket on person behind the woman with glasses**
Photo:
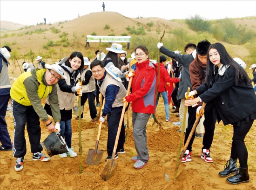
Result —
<instances>
[{"instance_id":1,"label":"plain red jacket on person behind the woman with glasses","mask_svg":"<svg viewBox=\"0 0 256 190\"><path fill-rule=\"evenodd\" d=\"M158 63L155 63L154 66L157 70ZM157 71L156 71L156 75L158 75ZM167 86L166 82L170 82L170 86L173 86L172 84L173 82L179 82L179 81L180 79L178 78L171 78L168 71L165 69L164 65L160 63L160 81L159 81L158 92L164 92L169 90L169 87Z\"/></svg>"}]
</instances>

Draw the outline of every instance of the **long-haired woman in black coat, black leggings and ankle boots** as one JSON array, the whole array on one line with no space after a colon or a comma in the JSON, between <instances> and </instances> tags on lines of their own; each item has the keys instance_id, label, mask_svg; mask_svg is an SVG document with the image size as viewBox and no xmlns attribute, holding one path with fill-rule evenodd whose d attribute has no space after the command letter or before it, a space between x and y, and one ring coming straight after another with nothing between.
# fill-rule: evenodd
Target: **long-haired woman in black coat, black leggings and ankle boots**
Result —
<instances>
[{"instance_id":1,"label":"long-haired woman in black coat, black leggings and ankle boots","mask_svg":"<svg viewBox=\"0 0 256 190\"><path fill-rule=\"evenodd\" d=\"M225 47L211 44L207 53L205 82L189 93L189 97L198 94L195 99L186 100L185 106L196 102L214 101L218 122L232 124L234 129L230 158L219 176L228 177L229 184L249 182L248 151L244 143L253 121L256 119L256 95L246 71L229 56ZM236 166L239 160L239 169Z\"/></svg>"}]
</instances>

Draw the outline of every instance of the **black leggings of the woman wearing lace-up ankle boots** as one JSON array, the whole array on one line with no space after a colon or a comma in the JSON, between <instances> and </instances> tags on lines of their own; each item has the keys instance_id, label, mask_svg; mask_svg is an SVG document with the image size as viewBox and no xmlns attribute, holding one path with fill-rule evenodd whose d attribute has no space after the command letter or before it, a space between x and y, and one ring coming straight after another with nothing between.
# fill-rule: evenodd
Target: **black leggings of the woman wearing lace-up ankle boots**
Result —
<instances>
[{"instance_id":1,"label":"black leggings of the woman wearing lace-up ankle boots","mask_svg":"<svg viewBox=\"0 0 256 190\"><path fill-rule=\"evenodd\" d=\"M248 122L244 122L245 120L240 121L240 126L237 126L237 123L233 124L234 134L232 138L232 146L231 146L231 155L230 158L239 160L241 168L247 168L248 161L248 151L244 143L244 139L246 134L249 132L253 121L249 120Z\"/></svg>"}]
</instances>

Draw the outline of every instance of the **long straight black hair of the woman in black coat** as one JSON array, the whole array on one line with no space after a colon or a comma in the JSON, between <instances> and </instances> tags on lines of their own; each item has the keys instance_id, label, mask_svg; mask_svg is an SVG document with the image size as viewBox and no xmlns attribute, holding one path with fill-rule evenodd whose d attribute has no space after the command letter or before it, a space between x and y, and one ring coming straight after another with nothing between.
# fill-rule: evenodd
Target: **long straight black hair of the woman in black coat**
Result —
<instances>
[{"instance_id":1,"label":"long straight black hair of the woman in black coat","mask_svg":"<svg viewBox=\"0 0 256 190\"><path fill-rule=\"evenodd\" d=\"M210 49L216 49L220 55L220 63L223 65L230 65L231 67L235 68L236 70L236 76L235 76L235 84L237 85L238 82L244 82L247 85L251 84L250 78L246 71L238 65L233 58L229 55L229 53L226 51L226 48L221 43L215 43L211 44L209 46L208 52L207 52L207 66L206 66L206 76L205 76L205 83L208 87L212 86L212 82L215 78L215 73L217 70L217 66L210 62L209 59L209 50ZM224 73L224 75L226 72Z\"/></svg>"}]
</instances>

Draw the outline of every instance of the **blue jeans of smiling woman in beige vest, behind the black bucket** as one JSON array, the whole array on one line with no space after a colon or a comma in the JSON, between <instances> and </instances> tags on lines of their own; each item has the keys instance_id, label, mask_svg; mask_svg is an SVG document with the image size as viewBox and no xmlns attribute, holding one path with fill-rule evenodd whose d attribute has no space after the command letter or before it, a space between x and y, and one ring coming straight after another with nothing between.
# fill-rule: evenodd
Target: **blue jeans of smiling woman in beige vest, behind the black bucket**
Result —
<instances>
[{"instance_id":1,"label":"blue jeans of smiling woman in beige vest, behind the black bucket","mask_svg":"<svg viewBox=\"0 0 256 190\"><path fill-rule=\"evenodd\" d=\"M61 120L61 136L65 139L67 147L71 148L72 127L71 120Z\"/></svg>"}]
</instances>

